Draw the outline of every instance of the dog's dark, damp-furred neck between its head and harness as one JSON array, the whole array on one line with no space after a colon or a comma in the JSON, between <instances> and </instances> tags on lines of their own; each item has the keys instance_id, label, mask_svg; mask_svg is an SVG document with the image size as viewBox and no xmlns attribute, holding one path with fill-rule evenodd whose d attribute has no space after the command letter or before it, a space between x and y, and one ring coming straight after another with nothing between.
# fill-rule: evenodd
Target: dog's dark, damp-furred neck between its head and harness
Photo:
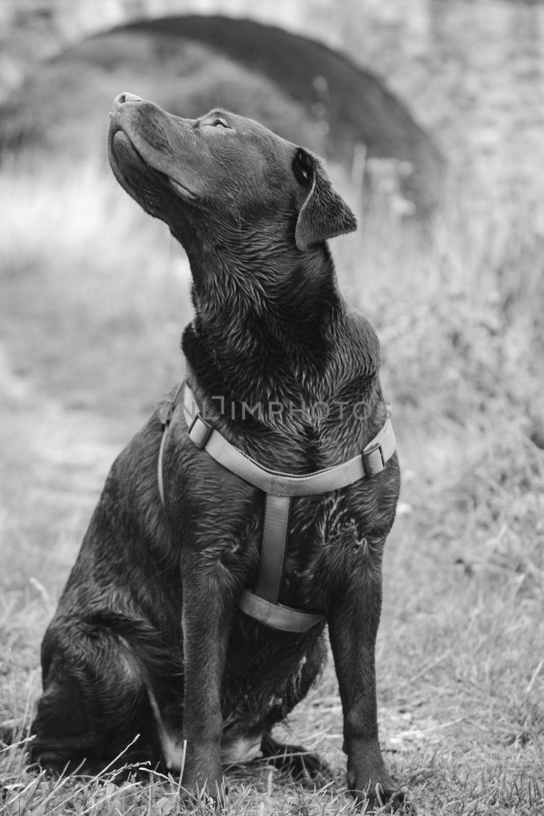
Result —
<instances>
[{"instance_id":1,"label":"dog's dark, damp-furred neck between its head and harness","mask_svg":"<svg viewBox=\"0 0 544 816\"><path fill-rule=\"evenodd\" d=\"M213 385L233 398L294 396L302 370L312 379L322 370L329 326L342 308L332 261L317 253L312 264L276 256L250 269L224 255L207 261L204 270L192 265L190 334L198 348L184 336L195 372L206 361L199 380L213 372Z\"/></svg>"}]
</instances>

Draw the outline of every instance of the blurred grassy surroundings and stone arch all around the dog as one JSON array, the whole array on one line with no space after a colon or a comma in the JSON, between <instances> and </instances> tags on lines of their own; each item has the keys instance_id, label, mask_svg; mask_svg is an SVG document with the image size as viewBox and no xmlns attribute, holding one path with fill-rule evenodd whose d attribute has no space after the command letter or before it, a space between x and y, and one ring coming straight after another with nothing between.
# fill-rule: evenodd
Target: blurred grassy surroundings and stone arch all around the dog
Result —
<instances>
[{"instance_id":1,"label":"blurred grassy surroundings and stone arch all around the dog","mask_svg":"<svg viewBox=\"0 0 544 816\"><path fill-rule=\"evenodd\" d=\"M121 91L220 105L325 156L359 215L331 248L381 339L404 476L378 644L390 760L427 805L455 790L448 813L537 813L544 6L3 0L0 48L0 727L28 721L109 465L184 374L188 263L113 180L108 110Z\"/></svg>"}]
</instances>

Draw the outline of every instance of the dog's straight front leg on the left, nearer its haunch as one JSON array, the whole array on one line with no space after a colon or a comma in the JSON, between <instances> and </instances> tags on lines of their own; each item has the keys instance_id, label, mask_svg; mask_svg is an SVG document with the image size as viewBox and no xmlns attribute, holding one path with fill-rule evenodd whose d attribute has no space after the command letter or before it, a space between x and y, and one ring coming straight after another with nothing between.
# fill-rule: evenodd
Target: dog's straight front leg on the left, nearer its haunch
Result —
<instances>
[{"instance_id":1,"label":"dog's straight front leg on the left, nearer its haunch","mask_svg":"<svg viewBox=\"0 0 544 816\"><path fill-rule=\"evenodd\" d=\"M217 569L203 570L200 563L184 570L182 615L187 752L181 781L188 792L205 788L214 798L222 795L220 695L234 614L230 588Z\"/></svg>"}]
</instances>

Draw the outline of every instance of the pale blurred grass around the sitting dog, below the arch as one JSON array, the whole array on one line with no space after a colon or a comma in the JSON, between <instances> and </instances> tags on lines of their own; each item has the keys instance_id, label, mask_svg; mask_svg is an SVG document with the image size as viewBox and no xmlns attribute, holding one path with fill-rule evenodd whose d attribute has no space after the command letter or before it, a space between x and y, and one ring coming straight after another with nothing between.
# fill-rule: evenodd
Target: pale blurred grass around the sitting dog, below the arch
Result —
<instances>
[{"instance_id":1,"label":"pale blurred grass around the sitting dog, below the arch","mask_svg":"<svg viewBox=\"0 0 544 816\"><path fill-rule=\"evenodd\" d=\"M513 198L477 218L463 204L423 235L376 206L332 245L343 290L382 340L404 475L384 565L381 739L420 814L536 816L542 224ZM187 264L166 227L93 164L77 175L55 162L4 166L0 222L0 738L15 733L0 743L6 813L175 813L176 779L52 780L25 764L24 747L42 633L109 464L183 375ZM263 763L231 769L225 814L355 813L331 666L288 728L334 779L313 789Z\"/></svg>"}]
</instances>

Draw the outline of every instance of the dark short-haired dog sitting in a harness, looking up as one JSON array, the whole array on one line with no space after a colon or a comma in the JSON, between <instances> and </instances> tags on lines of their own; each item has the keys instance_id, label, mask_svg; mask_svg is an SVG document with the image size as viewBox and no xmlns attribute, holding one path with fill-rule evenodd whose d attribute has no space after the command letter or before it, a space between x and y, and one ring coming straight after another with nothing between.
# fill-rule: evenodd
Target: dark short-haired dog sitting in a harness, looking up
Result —
<instances>
[{"instance_id":1,"label":"dark short-haired dog sitting in a harness, looking up","mask_svg":"<svg viewBox=\"0 0 544 816\"><path fill-rule=\"evenodd\" d=\"M271 732L318 680L326 622L347 790L400 807L378 745L374 671L394 445L387 456L372 445L351 481L344 468L363 467L388 421L378 339L343 300L327 244L355 216L320 159L220 109L188 120L121 94L108 156L184 246L195 317L185 384L113 463L46 630L33 760L161 763L212 797L223 765L259 754L318 774L319 757ZM195 442L188 395L238 471ZM285 484L299 493L273 495ZM276 583L272 600L259 598L261 579Z\"/></svg>"}]
</instances>

